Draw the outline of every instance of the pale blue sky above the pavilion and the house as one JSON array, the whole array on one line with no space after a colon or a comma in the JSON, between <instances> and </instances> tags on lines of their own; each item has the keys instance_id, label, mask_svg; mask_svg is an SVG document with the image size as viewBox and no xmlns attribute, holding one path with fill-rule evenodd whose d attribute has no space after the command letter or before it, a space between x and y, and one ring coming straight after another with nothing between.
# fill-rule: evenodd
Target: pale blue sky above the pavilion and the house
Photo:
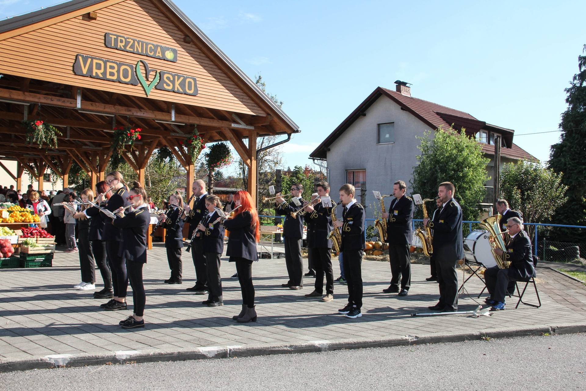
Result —
<instances>
[{"instance_id":1,"label":"pale blue sky above the pavilion and the house","mask_svg":"<svg viewBox=\"0 0 586 391\"><path fill-rule=\"evenodd\" d=\"M0 0L0 18L54 4ZM515 130L545 161L564 88L586 43L584 1L193 1L175 3L301 128L285 167L309 153L377 86ZM409 4L411 3L411 4ZM363 151L357 151L363 153Z\"/></svg>"}]
</instances>

